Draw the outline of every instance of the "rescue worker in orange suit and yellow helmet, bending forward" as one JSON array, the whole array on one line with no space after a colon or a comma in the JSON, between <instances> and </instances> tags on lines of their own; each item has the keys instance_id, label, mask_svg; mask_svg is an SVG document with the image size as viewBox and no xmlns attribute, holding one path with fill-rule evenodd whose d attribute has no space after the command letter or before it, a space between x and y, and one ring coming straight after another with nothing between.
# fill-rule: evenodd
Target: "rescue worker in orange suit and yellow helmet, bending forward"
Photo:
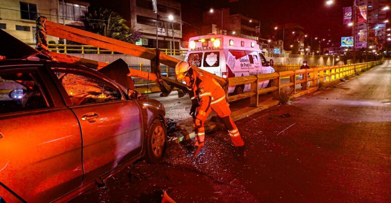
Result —
<instances>
[{"instance_id":1,"label":"rescue worker in orange suit and yellow helmet, bending forward","mask_svg":"<svg viewBox=\"0 0 391 203\"><path fill-rule=\"evenodd\" d=\"M227 102L226 93L220 84L211 76L195 71L189 63L179 62L175 66L175 78L185 81L192 89L190 115L193 117L195 131L195 150L193 156L198 156L205 144L205 121L209 113L214 110L228 129L231 141L236 147L243 149L242 140L238 127L231 118L230 105Z\"/></svg>"}]
</instances>

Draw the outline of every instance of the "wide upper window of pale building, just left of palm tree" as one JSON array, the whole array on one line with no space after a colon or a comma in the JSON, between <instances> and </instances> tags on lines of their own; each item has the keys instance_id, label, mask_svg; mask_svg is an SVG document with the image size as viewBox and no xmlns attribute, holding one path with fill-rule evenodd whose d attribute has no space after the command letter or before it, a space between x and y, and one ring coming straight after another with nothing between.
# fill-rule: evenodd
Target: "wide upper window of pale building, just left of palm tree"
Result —
<instances>
[{"instance_id":1,"label":"wide upper window of pale building, just left of palm tree","mask_svg":"<svg viewBox=\"0 0 391 203\"><path fill-rule=\"evenodd\" d=\"M63 12L65 9L65 12ZM81 17L85 15L87 12L88 7L84 5L78 5L78 4L72 4L65 2L65 5L63 5L63 2L60 1L60 18L71 21L81 21Z\"/></svg>"}]
</instances>

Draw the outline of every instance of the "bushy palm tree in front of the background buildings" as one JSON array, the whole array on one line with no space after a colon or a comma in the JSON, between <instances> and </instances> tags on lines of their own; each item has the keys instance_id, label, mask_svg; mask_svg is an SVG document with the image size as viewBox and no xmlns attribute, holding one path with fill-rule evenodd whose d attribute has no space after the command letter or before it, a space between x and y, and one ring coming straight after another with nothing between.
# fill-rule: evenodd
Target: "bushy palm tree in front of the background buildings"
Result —
<instances>
[{"instance_id":1,"label":"bushy palm tree in front of the background buildings","mask_svg":"<svg viewBox=\"0 0 391 203\"><path fill-rule=\"evenodd\" d=\"M86 31L105 37L135 43L141 38L141 33L126 25L126 20L118 13L104 8L88 8L82 16Z\"/></svg>"}]
</instances>

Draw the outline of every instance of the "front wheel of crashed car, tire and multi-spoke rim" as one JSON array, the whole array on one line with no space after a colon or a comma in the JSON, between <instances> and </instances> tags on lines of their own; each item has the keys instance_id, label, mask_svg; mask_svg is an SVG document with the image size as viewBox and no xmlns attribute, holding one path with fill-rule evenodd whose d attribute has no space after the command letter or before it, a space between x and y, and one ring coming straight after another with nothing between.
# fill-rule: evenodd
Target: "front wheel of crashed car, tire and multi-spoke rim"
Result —
<instances>
[{"instance_id":1,"label":"front wheel of crashed car, tire and multi-spoke rim","mask_svg":"<svg viewBox=\"0 0 391 203\"><path fill-rule=\"evenodd\" d=\"M166 144L167 131L160 120L154 120L149 128L145 159L149 163L158 163L163 158Z\"/></svg>"}]
</instances>

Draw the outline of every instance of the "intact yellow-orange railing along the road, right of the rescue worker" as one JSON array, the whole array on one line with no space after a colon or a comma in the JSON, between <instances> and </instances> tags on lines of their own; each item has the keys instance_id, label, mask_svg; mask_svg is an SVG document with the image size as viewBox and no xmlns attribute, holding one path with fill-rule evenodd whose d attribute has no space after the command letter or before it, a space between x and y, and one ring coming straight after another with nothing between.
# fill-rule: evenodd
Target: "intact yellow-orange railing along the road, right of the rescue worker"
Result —
<instances>
[{"instance_id":1,"label":"intact yellow-orange railing along the road, right of the rescue worker","mask_svg":"<svg viewBox=\"0 0 391 203\"><path fill-rule=\"evenodd\" d=\"M326 66L311 69L301 69L292 71L275 72L268 74L250 75L243 77L229 78L229 86L250 84L251 90L242 94L233 95L228 97L229 102L238 101L241 99L250 98L250 106L259 106L259 95L276 92L280 94L284 88L291 89L292 93L296 93L296 85L301 84L303 89L309 87L319 87L327 83L344 78L345 76L351 76L354 73L360 73L379 65L383 62L380 61L339 65L339 66ZM289 79L289 80L283 80ZM259 82L269 81L272 85L268 88L259 88ZM321 85L320 85L321 84Z\"/></svg>"}]
</instances>

